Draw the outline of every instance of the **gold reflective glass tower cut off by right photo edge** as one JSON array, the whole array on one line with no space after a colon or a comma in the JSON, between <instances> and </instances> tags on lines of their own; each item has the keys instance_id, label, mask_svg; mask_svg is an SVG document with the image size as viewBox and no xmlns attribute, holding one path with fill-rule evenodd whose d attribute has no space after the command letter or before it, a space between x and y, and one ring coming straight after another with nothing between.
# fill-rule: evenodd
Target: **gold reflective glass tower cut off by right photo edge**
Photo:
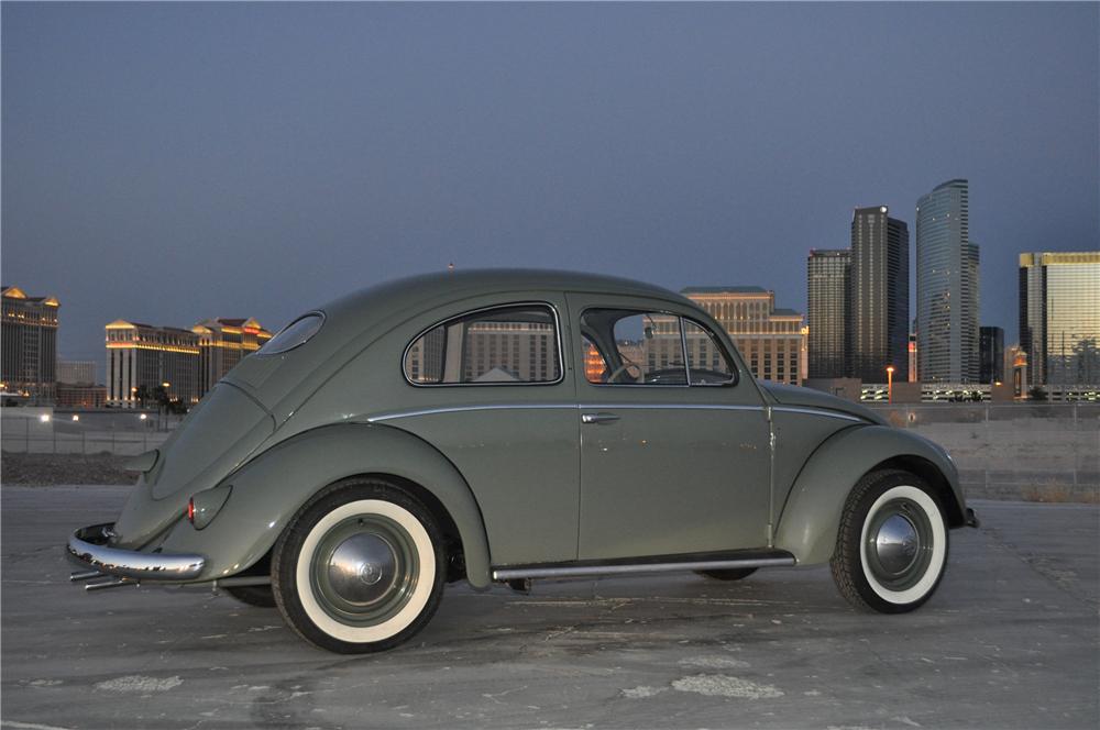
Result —
<instances>
[{"instance_id":1,"label":"gold reflective glass tower cut off by right photo edge","mask_svg":"<svg viewBox=\"0 0 1100 730\"><path fill-rule=\"evenodd\" d=\"M1100 384L1100 251L1020 254L1030 385Z\"/></svg>"}]
</instances>

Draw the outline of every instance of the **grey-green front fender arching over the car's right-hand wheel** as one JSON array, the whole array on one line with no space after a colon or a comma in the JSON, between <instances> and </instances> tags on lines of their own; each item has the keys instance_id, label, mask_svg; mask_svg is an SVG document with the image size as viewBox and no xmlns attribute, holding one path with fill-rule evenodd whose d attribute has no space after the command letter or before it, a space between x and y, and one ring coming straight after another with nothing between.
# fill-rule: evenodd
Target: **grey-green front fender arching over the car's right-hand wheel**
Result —
<instances>
[{"instance_id":1,"label":"grey-green front fender arching over the car's right-hand wheel","mask_svg":"<svg viewBox=\"0 0 1100 730\"><path fill-rule=\"evenodd\" d=\"M966 501L947 452L909 431L865 425L829 436L806 461L780 513L776 548L791 552L800 564L828 561L848 493L877 468L917 474L937 490L948 523L963 523Z\"/></svg>"}]
</instances>

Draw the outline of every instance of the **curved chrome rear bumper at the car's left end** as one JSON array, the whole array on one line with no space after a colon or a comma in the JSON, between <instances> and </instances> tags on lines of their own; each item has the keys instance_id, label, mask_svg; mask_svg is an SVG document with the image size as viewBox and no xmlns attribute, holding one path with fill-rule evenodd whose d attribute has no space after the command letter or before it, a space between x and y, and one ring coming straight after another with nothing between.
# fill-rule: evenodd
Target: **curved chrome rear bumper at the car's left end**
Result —
<instances>
[{"instance_id":1,"label":"curved chrome rear bumper at the car's left end","mask_svg":"<svg viewBox=\"0 0 1100 730\"><path fill-rule=\"evenodd\" d=\"M143 553L136 550L111 548L113 523L92 524L73 533L68 541L69 557L85 568L105 576L136 580L183 582L197 578L202 573L206 558L201 555ZM74 579L98 577L74 575Z\"/></svg>"}]
</instances>

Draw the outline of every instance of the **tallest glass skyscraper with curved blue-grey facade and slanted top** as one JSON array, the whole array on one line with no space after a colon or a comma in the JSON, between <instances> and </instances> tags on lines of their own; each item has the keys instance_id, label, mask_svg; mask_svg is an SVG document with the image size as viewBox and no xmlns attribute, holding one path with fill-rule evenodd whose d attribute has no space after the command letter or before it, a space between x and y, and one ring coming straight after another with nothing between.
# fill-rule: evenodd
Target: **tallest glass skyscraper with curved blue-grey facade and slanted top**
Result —
<instances>
[{"instance_id":1,"label":"tallest glass skyscraper with curved blue-grey facade and slanted top","mask_svg":"<svg viewBox=\"0 0 1100 730\"><path fill-rule=\"evenodd\" d=\"M969 184L937 185L916 203L917 361L925 383L977 383L978 246Z\"/></svg>"}]
</instances>

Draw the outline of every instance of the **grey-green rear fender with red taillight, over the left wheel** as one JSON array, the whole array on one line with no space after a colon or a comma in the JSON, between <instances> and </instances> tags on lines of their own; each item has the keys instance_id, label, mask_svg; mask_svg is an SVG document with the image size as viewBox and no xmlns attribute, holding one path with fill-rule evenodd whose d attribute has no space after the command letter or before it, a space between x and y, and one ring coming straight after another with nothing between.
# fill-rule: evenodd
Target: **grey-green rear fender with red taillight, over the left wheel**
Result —
<instances>
[{"instance_id":1,"label":"grey-green rear fender with red taillight, over the left wheel","mask_svg":"<svg viewBox=\"0 0 1100 730\"><path fill-rule=\"evenodd\" d=\"M196 530L180 520L162 549L205 555L200 582L240 573L272 549L319 489L362 474L402 477L435 495L459 530L466 578L474 588L488 587L485 526L462 475L426 442L378 424L327 425L272 446L222 482L233 490L209 526Z\"/></svg>"}]
</instances>

